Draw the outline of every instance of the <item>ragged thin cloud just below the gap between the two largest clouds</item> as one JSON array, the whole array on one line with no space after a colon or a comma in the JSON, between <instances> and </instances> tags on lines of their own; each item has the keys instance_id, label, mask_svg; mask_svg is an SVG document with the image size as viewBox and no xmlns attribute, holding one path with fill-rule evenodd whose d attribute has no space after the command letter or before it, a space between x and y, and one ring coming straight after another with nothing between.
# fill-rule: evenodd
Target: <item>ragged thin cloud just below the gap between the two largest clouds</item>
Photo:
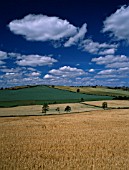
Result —
<instances>
[{"instance_id":1,"label":"ragged thin cloud just below the gap between the two largest clouds","mask_svg":"<svg viewBox=\"0 0 129 170\"><path fill-rule=\"evenodd\" d=\"M117 47L117 44L100 44L99 42L94 42L92 39L83 40L79 45L79 48L83 51L100 55L114 54Z\"/></svg>"}]
</instances>

